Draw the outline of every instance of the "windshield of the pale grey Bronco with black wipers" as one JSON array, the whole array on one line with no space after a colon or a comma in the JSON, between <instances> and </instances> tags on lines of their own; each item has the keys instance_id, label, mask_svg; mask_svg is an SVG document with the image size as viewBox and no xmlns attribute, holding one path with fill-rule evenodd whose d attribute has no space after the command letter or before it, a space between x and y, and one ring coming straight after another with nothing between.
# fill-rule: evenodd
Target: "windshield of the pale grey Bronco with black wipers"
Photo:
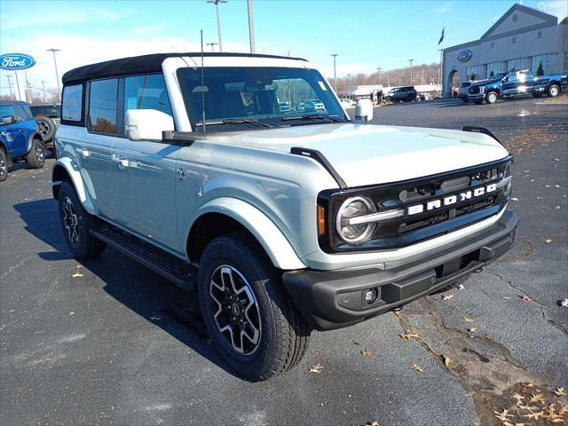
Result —
<instances>
[{"instance_id":1,"label":"windshield of the pale grey Bronco with black wipers","mask_svg":"<svg viewBox=\"0 0 568 426\"><path fill-rule=\"evenodd\" d=\"M205 125L215 130L348 120L314 69L205 67L203 83L201 68L180 68L177 74L193 128L203 126L203 109Z\"/></svg>"}]
</instances>

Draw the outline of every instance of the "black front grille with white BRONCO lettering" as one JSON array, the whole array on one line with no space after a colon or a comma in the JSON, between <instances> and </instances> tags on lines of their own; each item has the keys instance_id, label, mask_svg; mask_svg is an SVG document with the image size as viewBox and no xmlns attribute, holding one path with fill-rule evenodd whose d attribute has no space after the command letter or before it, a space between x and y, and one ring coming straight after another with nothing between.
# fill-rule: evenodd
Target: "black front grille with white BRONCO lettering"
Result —
<instances>
[{"instance_id":1,"label":"black front grille with white BRONCO lettering","mask_svg":"<svg viewBox=\"0 0 568 426\"><path fill-rule=\"evenodd\" d=\"M334 212L354 193L369 197L374 201L379 212L403 209L405 214L402 217L381 221L376 226L371 239L359 246L345 243L336 234L335 229L330 229L329 235L319 240L320 247L327 252L400 248L491 217L497 214L508 200L503 193L504 187L497 186L495 190L481 195L473 194L479 188L501 182L508 162L509 158L437 177L328 194L327 201L330 208L327 209L327 223L335 223ZM461 194L469 194L469 198L465 196L461 198ZM447 197L454 195L458 201L452 204L439 207L435 204L438 201L442 203ZM320 197L326 196L325 192L320 194ZM323 200L318 202L325 203ZM431 209L429 203L433 206ZM414 210L409 208L418 205L422 205L422 211L411 213Z\"/></svg>"}]
</instances>

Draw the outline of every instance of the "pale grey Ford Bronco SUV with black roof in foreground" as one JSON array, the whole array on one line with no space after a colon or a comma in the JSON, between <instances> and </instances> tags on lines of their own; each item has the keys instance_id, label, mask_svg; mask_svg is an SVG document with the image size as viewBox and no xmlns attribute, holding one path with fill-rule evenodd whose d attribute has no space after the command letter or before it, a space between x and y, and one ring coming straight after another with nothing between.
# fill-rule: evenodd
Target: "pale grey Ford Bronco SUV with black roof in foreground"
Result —
<instances>
[{"instance_id":1,"label":"pale grey Ford Bronco SUV with black roof in foreground","mask_svg":"<svg viewBox=\"0 0 568 426\"><path fill-rule=\"evenodd\" d=\"M304 59L153 54L63 84L52 181L71 252L110 245L196 288L250 381L294 367L313 329L454 285L516 240L512 157L489 130L351 121Z\"/></svg>"}]
</instances>

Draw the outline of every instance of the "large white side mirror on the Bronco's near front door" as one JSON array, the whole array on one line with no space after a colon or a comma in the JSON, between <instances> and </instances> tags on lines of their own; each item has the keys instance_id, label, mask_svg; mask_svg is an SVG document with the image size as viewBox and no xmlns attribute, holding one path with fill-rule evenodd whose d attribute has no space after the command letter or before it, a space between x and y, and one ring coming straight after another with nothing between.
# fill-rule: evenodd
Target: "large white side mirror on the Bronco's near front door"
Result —
<instances>
[{"instance_id":1,"label":"large white side mirror on the Bronco's near front door","mask_svg":"<svg viewBox=\"0 0 568 426\"><path fill-rule=\"evenodd\" d=\"M130 140L162 142L162 131L174 130L174 119L156 109L129 109L124 128Z\"/></svg>"}]
</instances>

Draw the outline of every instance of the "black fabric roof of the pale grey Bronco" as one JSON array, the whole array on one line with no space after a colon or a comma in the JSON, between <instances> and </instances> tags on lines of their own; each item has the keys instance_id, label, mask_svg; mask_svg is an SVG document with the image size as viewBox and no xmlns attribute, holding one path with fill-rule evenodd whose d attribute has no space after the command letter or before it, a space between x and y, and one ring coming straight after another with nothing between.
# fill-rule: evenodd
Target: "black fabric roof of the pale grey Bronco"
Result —
<instances>
[{"instance_id":1,"label":"black fabric roof of the pale grey Bronco","mask_svg":"<svg viewBox=\"0 0 568 426\"><path fill-rule=\"evenodd\" d=\"M162 62L167 58L180 58L184 56L200 57L201 52L177 52L177 53L154 53L151 55L132 56L130 58L112 59L98 64L85 65L67 71L61 79L63 84L81 82L83 80L110 77L116 75L156 73L162 71ZM253 53L223 53L203 52L204 57L242 57L242 58L272 58L272 59L296 59L288 56L261 55Z\"/></svg>"}]
</instances>

